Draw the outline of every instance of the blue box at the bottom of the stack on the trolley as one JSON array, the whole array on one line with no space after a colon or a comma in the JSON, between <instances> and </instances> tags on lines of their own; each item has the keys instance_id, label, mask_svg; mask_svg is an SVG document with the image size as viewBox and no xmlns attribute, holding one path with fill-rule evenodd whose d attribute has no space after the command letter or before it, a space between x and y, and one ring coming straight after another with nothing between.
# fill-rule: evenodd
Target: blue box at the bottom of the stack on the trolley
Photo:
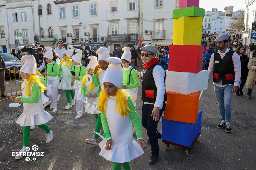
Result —
<instances>
[{"instance_id":1,"label":"blue box at the bottom of the stack on the trolley","mask_svg":"<svg viewBox=\"0 0 256 170\"><path fill-rule=\"evenodd\" d=\"M190 147L201 131L202 110L199 110L195 124L162 118L162 139L165 141Z\"/></svg>"}]
</instances>

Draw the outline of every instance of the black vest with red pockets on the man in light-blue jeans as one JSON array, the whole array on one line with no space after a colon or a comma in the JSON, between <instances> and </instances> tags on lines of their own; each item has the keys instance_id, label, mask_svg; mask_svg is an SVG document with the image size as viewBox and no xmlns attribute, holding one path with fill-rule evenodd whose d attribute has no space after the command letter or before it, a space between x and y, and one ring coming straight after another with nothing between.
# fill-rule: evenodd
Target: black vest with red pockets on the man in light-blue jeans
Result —
<instances>
[{"instance_id":1,"label":"black vest with red pockets on the man in light-blue jeans","mask_svg":"<svg viewBox=\"0 0 256 170\"><path fill-rule=\"evenodd\" d=\"M232 55L234 51L229 50L221 59L218 52L214 52L214 70L213 70L213 82L222 84L234 84L235 83L235 71L232 61Z\"/></svg>"}]
</instances>

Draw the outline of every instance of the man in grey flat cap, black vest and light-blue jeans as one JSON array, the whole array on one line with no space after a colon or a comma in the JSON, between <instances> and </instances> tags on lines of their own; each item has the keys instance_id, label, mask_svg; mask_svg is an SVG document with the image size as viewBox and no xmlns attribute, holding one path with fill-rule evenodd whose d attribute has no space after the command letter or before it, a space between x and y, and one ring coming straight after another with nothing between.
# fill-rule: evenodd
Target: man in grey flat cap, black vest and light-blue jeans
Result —
<instances>
[{"instance_id":1,"label":"man in grey flat cap, black vest and light-blue jeans","mask_svg":"<svg viewBox=\"0 0 256 170\"><path fill-rule=\"evenodd\" d=\"M238 91L241 62L239 55L227 48L229 35L220 34L216 39L219 51L211 55L209 63L209 77L213 72L213 84L215 97L218 101L221 122L219 129L225 127L226 132L231 132L231 102L234 93Z\"/></svg>"}]
</instances>

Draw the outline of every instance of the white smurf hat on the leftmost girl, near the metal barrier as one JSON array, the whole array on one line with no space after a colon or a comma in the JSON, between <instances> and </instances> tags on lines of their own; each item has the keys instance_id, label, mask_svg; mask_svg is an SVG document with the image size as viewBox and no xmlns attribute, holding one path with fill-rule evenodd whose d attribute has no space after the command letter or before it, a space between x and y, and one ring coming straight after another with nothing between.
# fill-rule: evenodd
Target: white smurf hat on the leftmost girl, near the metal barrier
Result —
<instances>
[{"instance_id":1,"label":"white smurf hat on the leftmost girl, near the metal barrier","mask_svg":"<svg viewBox=\"0 0 256 170\"><path fill-rule=\"evenodd\" d=\"M27 74L37 74L37 62L34 55L31 55L31 54L24 55L23 59L27 61L20 68L20 71Z\"/></svg>"}]
</instances>

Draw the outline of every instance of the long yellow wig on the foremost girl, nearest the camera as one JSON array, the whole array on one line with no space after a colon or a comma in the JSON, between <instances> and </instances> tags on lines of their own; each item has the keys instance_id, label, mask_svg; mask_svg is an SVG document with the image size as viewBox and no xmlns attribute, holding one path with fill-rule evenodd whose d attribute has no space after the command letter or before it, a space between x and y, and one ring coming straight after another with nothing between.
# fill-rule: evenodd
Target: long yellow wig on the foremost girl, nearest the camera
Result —
<instances>
[{"instance_id":1,"label":"long yellow wig on the foremost girl, nearest the camera","mask_svg":"<svg viewBox=\"0 0 256 170\"><path fill-rule=\"evenodd\" d=\"M120 113L124 118L125 115L128 114L129 111L131 111L126 96L129 96L131 99L133 99L130 95L126 94L122 89L117 88L116 90L116 103L115 107L117 106L116 112ZM98 110L101 111L103 114L106 113L106 106L107 106L107 100L108 95L105 92L105 89L101 91L99 102L98 102Z\"/></svg>"}]
</instances>

